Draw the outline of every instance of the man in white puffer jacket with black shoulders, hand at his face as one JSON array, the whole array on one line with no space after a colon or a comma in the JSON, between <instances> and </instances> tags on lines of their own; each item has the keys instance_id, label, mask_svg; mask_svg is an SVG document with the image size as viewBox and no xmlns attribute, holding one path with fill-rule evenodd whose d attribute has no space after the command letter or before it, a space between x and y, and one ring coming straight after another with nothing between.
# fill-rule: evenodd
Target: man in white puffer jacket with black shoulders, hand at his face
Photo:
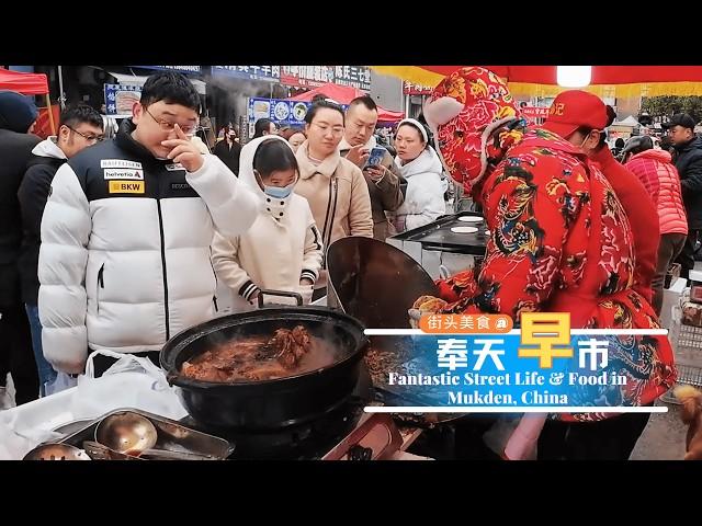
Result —
<instances>
[{"instance_id":1,"label":"man in white puffer jacket with black shoulders, hand at his face","mask_svg":"<svg viewBox=\"0 0 702 526\"><path fill-rule=\"evenodd\" d=\"M215 315L210 244L246 231L259 199L190 137L200 98L182 75L146 81L114 140L57 172L42 220L44 356L82 373L89 350L147 355Z\"/></svg>"}]
</instances>

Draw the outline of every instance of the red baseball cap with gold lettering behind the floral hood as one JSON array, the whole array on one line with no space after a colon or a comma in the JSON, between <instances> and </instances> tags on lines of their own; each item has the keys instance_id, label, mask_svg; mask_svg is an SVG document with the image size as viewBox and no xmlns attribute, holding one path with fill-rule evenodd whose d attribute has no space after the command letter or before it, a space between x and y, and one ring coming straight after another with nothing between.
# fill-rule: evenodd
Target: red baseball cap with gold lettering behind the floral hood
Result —
<instances>
[{"instance_id":1,"label":"red baseball cap with gold lettering behind the floral hood","mask_svg":"<svg viewBox=\"0 0 702 526\"><path fill-rule=\"evenodd\" d=\"M580 126L604 129L609 124L607 106L599 96L582 90L568 90L553 101L542 128L566 138Z\"/></svg>"}]
</instances>

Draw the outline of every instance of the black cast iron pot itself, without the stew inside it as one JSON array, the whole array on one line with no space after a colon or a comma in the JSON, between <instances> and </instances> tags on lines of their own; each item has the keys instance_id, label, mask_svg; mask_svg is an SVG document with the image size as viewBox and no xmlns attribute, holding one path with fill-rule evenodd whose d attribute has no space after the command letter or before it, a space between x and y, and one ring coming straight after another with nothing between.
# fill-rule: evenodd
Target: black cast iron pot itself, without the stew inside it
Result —
<instances>
[{"instance_id":1,"label":"black cast iron pot itself, without the stew inside it","mask_svg":"<svg viewBox=\"0 0 702 526\"><path fill-rule=\"evenodd\" d=\"M278 329L304 325L336 348L336 361L296 376L233 384L182 376L183 362L214 344L239 338L272 336ZM275 431L332 411L351 396L367 347L364 327L342 312L319 307L269 307L191 327L171 338L160 353L167 378L178 386L185 410L197 422L220 428Z\"/></svg>"}]
</instances>

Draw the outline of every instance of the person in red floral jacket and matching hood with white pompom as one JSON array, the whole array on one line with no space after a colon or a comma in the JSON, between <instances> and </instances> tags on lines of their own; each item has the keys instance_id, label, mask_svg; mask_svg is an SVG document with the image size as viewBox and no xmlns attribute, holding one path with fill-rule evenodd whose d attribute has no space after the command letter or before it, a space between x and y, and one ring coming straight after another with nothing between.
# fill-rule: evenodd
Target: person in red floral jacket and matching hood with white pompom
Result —
<instances>
[{"instance_id":1,"label":"person in red floral jacket and matching hood with white pompom","mask_svg":"<svg viewBox=\"0 0 702 526\"><path fill-rule=\"evenodd\" d=\"M507 85L483 68L446 77L424 106L454 180L484 208L491 232L479 270L438 282L442 313L570 312L573 328L659 328L633 288L626 215L579 148L523 128ZM426 298L424 298L426 299ZM423 301L422 301L423 302ZM625 364L622 397L652 404L676 380L666 336L622 336L610 361ZM541 458L629 458L648 414L559 414L540 439ZM567 438L566 438L567 434Z\"/></svg>"}]
</instances>

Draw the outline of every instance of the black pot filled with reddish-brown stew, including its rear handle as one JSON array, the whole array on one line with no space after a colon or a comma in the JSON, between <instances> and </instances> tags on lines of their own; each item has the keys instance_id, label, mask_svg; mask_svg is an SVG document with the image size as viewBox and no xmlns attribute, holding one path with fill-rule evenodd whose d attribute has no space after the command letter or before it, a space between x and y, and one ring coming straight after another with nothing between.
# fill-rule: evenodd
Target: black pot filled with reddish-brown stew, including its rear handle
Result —
<instances>
[{"instance_id":1,"label":"black pot filled with reddish-brown stew, including its rear handle","mask_svg":"<svg viewBox=\"0 0 702 526\"><path fill-rule=\"evenodd\" d=\"M320 307L265 307L206 321L160 353L167 378L202 424L274 431L333 411L352 393L367 346L360 321Z\"/></svg>"}]
</instances>

